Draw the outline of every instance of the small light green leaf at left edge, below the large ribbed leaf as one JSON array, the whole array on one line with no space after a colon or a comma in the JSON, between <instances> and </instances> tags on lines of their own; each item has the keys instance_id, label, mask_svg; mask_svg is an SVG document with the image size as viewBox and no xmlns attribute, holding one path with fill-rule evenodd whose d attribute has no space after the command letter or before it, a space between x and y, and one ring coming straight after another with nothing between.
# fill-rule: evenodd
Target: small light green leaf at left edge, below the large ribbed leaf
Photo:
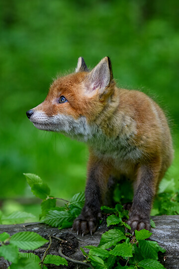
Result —
<instances>
[{"instance_id":1,"label":"small light green leaf at left edge, below the large ribbed leaf","mask_svg":"<svg viewBox=\"0 0 179 269\"><path fill-rule=\"evenodd\" d=\"M0 257L11 263L17 263L18 261L18 248L12 244L3 245L0 247Z\"/></svg>"}]
</instances>

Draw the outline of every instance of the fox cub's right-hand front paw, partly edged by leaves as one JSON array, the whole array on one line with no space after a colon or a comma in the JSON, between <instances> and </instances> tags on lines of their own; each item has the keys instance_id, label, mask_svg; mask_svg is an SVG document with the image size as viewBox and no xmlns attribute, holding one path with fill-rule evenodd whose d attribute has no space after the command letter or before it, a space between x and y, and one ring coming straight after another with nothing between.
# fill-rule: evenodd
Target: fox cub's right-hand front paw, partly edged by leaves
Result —
<instances>
[{"instance_id":1,"label":"fox cub's right-hand front paw, partly edged by leaves","mask_svg":"<svg viewBox=\"0 0 179 269\"><path fill-rule=\"evenodd\" d=\"M140 216L129 217L127 224L131 227L131 230L126 229L126 232L134 234L134 231L140 231L142 229L150 230L150 218L142 218Z\"/></svg>"}]
</instances>

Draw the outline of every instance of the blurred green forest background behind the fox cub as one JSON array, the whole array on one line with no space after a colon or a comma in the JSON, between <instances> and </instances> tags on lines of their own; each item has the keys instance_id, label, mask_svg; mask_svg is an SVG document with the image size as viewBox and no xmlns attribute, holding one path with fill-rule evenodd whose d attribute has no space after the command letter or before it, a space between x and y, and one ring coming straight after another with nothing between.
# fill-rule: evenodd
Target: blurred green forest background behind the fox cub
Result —
<instances>
[{"instance_id":1,"label":"blurred green forest background behind the fox cub","mask_svg":"<svg viewBox=\"0 0 179 269\"><path fill-rule=\"evenodd\" d=\"M55 197L83 191L88 149L35 129L25 112L41 103L57 73L78 57L112 61L120 87L154 96L169 114L175 160L166 178L179 188L179 1L0 1L0 199L32 197L23 173L39 175ZM8 206L10 204L10 209ZM12 206L13 205L13 206ZM35 210L40 207L34 206ZM32 210L26 208L26 210Z\"/></svg>"}]
</instances>

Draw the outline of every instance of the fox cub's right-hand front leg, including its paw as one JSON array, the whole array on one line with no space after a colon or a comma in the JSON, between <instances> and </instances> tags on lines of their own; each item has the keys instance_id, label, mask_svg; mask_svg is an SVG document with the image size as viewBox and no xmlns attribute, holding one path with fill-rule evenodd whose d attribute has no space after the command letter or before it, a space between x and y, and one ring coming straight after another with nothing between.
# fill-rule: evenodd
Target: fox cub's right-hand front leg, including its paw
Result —
<instances>
[{"instance_id":1,"label":"fox cub's right-hand front leg, including its paw","mask_svg":"<svg viewBox=\"0 0 179 269\"><path fill-rule=\"evenodd\" d=\"M150 230L150 212L158 182L158 167L152 164L141 165L137 170L134 198L127 221L131 227L130 233L135 230Z\"/></svg>"}]
</instances>

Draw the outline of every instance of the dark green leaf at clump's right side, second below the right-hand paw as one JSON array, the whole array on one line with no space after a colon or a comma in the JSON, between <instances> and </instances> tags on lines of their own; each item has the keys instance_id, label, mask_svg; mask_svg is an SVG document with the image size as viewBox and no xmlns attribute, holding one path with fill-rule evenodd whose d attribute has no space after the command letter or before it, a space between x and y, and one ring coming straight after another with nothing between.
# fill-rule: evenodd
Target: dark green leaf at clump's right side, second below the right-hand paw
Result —
<instances>
[{"instance_id":1,"label":"dark green leaf at clump's right side, second below the right-hand paw","mask_svg":"<svg viewBox=\"0 0 179 269\"><path fill-rule=\"evenodd\" d=\"M139 249L145 259L158 260L159 245L153 241L139 241Z\"/></svg>"}]
</instances>

